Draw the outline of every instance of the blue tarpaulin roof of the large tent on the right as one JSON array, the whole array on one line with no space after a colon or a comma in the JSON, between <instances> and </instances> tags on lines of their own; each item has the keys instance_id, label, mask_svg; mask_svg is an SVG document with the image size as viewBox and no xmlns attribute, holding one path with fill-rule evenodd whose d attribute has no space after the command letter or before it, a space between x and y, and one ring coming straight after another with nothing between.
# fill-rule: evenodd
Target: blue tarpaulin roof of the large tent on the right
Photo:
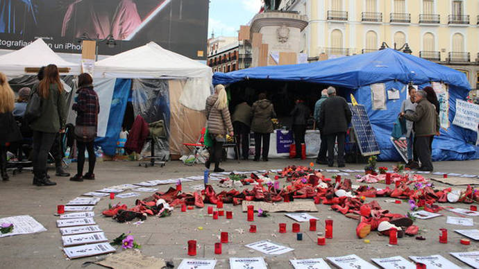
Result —
<instances>
[{"instance_id":1,"label":"blue tarpaulin roof of the large tent on the right","mask_svg":"<svg viewBox=\"0 0 479 269\"><path fill-rule=\"evenodd\" d=\"M351 89L391 80L414 84L442 81L465 89L471 88L464 73L394 49L310 64L253 67L230 73L215 73L213 84L230 84L246 79L305 81Z\"/></svg>"}]
</instances>

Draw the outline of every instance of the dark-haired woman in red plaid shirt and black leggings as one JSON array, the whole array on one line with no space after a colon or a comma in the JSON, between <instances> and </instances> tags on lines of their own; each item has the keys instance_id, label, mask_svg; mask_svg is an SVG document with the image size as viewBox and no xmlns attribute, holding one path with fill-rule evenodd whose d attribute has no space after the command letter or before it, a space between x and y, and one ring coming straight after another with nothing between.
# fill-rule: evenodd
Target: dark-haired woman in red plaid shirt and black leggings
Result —
<instances>
[{"instance_id":1,"label":"dark-haired woman in red plaid shirt and black leggings","mask_svg":"<svg viewBox=\"0 0 479 269\"><path fill-rule=\"evenodd\" d=\"M78 97L76 103L73 104L72 109L76 110L76 127L78 126L94 126L96 137L96 125L98 125L98 114L100 112L100 105L98 95L93 89L92 76L87 73L81 73L78 76ZM84 141L77 137L76 148L78 149L76 175L70 178L72 181L94 180L95 175L93 169L95 168L96 155L93 144L94 137L91 141ZM85 164L85 149L88 150L88 173L83 175L83 164Z\"/></svg>"}]
</instances>

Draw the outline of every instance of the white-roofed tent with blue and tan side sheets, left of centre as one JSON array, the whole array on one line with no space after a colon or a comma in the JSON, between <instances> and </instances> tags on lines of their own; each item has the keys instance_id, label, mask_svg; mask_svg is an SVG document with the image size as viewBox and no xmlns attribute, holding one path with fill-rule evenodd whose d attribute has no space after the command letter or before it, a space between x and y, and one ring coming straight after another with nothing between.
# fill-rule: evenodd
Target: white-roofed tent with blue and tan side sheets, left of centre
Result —
<instances>
[{"instance_id":1,"label":"white-roofed tent with blue and tan side sheets, left of centre","mask_svg":"<svg viewBox=\"0 0 479 269\"><path fill-rule=\"evenodd\" d=\"M178 159L187 152L183 144L197 141L205 126L211 79L210 67L153 42L95 62L94 86L105 103L96 144L115 155L124 119L140 115L165 123L167 138L158 141L156 155Z\"/></svg>"}]
</instances>

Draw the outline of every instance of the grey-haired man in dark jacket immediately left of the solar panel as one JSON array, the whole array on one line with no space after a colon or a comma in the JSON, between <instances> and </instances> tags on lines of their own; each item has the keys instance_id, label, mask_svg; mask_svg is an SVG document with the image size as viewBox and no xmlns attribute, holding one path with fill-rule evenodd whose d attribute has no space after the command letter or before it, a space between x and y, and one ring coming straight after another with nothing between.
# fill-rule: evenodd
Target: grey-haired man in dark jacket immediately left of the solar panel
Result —
<instances>
[{"instance_id":1,"label":"grey-haired man in dark jacket immediately left of the solar panel","mask_svg":"<svg viewBox=\"0 0 479 269\"><path fill-rule=\"evenodd\" d=\"M351 110L344 98L336 96L334 87L328 87L328 96L321 105L319 128L328 140L328 166L333 166L337 139L337 166L344 167L344 140L351 123Z\"/></svg>"}]
</instances>

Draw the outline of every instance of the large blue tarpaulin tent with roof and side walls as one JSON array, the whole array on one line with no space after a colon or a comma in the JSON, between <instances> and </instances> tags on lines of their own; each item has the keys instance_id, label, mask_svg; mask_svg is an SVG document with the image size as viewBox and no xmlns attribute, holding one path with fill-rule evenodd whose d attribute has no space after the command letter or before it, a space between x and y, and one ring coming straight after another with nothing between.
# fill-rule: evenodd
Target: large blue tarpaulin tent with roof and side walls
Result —
<instances>
[{"instance_id":1,"label":"large blue tarpaulin tent with roof and side walls","mask_svg":"<svg viewBox=\"0 0 479 269\"><path fill-rule=\"evenodd\" d=\"M353 55L310 64L292 64L274 67L253 67L230 73L215 73L213 84L231 84L242 80L278 80L321 83L344 87L366 107L380 146L382 160L401 159L389 140L392 126L406 98L407 83L419 88L431 82L448 85L449 121L455 116L455 100L465 100L471 86L464 73L449 67L417 58L394 49ZM373 110L370 85L385 83L386 89L403 89L400 99L387 100L387 110ZM348 95L348 94L343 94ZM474 146L476 132L450 124L447 130L434 139L433 159L464 160L479 158L479 149Z\"/></svg>"}]
</instances>

